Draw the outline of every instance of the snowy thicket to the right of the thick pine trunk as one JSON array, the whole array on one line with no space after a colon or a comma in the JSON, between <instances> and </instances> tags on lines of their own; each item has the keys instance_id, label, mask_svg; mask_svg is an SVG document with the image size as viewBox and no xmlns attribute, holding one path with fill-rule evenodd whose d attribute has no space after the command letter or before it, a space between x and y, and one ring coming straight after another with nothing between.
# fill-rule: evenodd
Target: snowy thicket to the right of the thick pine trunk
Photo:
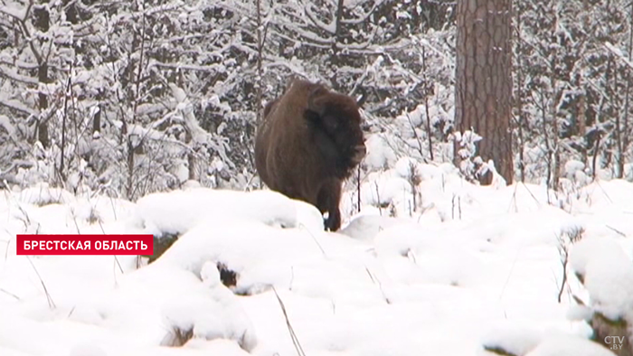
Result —
<instances>
[{"instance_id":1,"label":"snowy thicket to the right of the thick pine trunk","mask_svg":"<svg viewBox=\"0 0 633 356\"><path fill-rule=\"evenodd\" d=\"M631 8L623 1L516 3L519 167L558 189L565 161L621 177L630 157Z\"/></svg>"}]
</instances>

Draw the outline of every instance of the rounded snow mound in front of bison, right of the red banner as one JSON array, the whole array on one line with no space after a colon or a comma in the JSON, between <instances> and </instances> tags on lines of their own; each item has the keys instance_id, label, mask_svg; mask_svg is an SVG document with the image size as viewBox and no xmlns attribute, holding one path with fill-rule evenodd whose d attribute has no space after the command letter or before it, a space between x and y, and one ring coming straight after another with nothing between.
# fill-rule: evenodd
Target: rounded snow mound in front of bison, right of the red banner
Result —
<instances>
[{"instance_id":1,"label":"rounded snow mound in front of bison, right of the red banner","mask_svg":"<svg viewBox=\"0 0 633 356\"><path fill-rule=\"evenodd\" d=\"M341 246L350 249L339 255ZM277 286L307 295L334 297L345 289L326 285L345 286L345 278L365 278L362 266L368 262L364 261L367 256L363 246L340 234L279 230L256 220L215 218L182 235L156 264L200 275L207 262L222 263L238 275L234 289L240 294L259 294ZM318 274L328 272L330 282L323 285ZM374 289L367 295L377 292Z\"/></svg>"}]
</instances>

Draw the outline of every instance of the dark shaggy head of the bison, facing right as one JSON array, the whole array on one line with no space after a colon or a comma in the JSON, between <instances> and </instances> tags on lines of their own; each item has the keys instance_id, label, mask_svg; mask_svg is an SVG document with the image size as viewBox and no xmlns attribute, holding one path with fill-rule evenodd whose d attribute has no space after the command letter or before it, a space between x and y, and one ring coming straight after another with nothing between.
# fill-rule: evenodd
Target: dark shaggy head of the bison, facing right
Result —
<instances>
[{"instance_id":1,"label":"dark shaggy head of the bison, facing right","mask_svg":"<svg viewBox=\"0 0 633 356\"><path fill-rule=\"evenodd\" d=\"M305 117L318 149L335 161L337 175L348 175L366 154L356 101L317 86L309 94Z\"/></svg>"}]
</instances>

